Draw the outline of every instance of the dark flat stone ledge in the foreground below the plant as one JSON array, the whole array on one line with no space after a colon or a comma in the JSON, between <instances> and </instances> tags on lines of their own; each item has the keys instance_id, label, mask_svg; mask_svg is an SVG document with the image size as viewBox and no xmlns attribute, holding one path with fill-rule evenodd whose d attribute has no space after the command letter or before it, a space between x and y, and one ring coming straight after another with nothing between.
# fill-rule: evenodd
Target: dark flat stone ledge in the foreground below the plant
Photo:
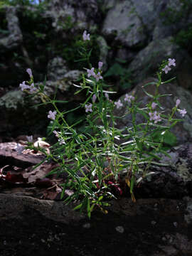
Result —
<instances>
[{"instance_id":1,"label":"dark flat stone ledge in the foreground below the plant","mask_svg":"<svg viewBox=\"0 0 192 256\"><path fill-rule=\"evenodd\" d=\"M191 225L183 220L185 210L182 200L151 198L132 203L122 198L111 201L107 215L96 211L87 220L63 202L1 193L1 255L124 256L129 250L133 256L190 256ZM90 228L84 228L87 223ZM117 232L117 227L124 232Z\"/></svg>"}]
</instances>

